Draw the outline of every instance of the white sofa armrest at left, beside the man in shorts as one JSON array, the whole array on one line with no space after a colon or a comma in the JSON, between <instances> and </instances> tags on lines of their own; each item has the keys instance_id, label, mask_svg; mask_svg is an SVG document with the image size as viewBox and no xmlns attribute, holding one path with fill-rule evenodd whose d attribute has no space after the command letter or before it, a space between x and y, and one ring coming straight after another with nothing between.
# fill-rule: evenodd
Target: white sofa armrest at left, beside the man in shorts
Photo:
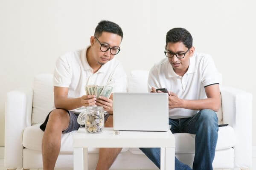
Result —
<instances>
[{"instance_id":1,"label":"white sofa armrest at left, beside the man in shorts","mask_svg":"<svg viewBox=\"0 0 256 170\"><path fill-rule=\"evenodd\" d=\"M5 160L6 168L23 166L23 130L31 126L32 88L19 88L7 93L5 113Z\"/></svg>"}]
</instances>

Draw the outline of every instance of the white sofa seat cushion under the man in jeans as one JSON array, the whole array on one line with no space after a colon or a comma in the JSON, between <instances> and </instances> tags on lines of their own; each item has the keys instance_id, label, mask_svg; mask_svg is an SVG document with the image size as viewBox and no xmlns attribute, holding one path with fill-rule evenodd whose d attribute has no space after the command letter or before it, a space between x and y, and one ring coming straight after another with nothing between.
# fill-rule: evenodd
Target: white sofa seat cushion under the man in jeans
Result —
<instances>
[{"instance_id":1,"label":"white sofa seat cushion under the man in jeans","mask_svg":"<svg viewBox=\"0 0 256 170\"><path fill-rule=\"evenodd\" d=\"M175 133L175 153L195 153L195 135ZM218 142L215 150L224 150L236 144L235 131L231 126L219 127ZM131 153L143 154L138 148L130 148Z\"/></svg>"}]
</instances>

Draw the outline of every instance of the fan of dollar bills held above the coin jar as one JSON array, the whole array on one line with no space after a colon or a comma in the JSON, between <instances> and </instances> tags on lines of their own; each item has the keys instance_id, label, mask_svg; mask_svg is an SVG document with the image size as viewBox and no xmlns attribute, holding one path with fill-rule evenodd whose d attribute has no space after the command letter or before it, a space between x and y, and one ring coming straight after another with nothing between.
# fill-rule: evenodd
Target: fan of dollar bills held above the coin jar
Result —
<instances>
[{"instance_id":1,"label":"fan of dollar bills held above the coin jar","mask_svg":"<svg viewBox=\"0 0 256 170\"><path fill-rule=\"evenodd\" d=\"M113 90L113 87L109 86L109 85L104 85L104 86L87 85L87 86L85 86L86 95L95 95L96 98L99 98L99 96L104 96L106 98L109 98L112 90Z\"/></svg>"}]
</instances>

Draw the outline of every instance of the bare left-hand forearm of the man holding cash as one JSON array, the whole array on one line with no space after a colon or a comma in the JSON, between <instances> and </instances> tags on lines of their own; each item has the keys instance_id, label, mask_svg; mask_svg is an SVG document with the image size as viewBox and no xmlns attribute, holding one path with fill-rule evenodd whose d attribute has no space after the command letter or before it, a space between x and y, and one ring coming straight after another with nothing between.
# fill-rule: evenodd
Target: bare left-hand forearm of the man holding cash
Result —
<instances>
[{"instance_id":1,"label":"bare left-hand forearm of the man holding cash","mask_svg":"<svg viewBox=\"0 0 256 170\"><path fill-rule=\"evenodd\" d=\"M61 98L55 99L54 104L56 108L66 109L68 111L76 108L80 108L81 106L83 106L81 104L80 98L61 97Z\"/></svg>"}]
</instances>

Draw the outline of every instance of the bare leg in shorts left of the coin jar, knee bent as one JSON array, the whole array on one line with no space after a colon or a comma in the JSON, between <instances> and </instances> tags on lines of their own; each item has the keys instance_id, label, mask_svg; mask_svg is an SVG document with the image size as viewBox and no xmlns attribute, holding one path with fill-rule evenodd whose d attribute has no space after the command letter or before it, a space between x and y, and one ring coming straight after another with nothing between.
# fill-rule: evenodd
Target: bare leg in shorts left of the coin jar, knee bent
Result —
<instances>
[{"instance_id":1,"label":"bare leg in shorts left of the coin jar, knee bent","mask_svg":"<svg viewBox=\"0 0 256 170\"><path fill-rule=\"evenodd\" d=\"M61 148L61 133L67 129L70 116L67 111L55 109L49 114L42 142L44 170L53 170Z\"/></svg>"}]
</instances>

